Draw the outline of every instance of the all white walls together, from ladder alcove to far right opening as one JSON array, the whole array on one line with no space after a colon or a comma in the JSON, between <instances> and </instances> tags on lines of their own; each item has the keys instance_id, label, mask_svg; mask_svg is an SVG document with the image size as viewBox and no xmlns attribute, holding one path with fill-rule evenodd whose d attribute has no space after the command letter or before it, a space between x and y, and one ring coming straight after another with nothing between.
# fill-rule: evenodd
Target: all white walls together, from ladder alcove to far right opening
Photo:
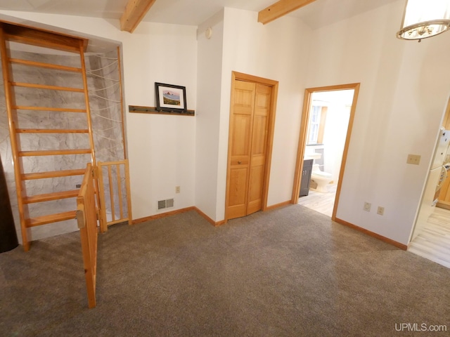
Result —
<instances>
[{"instance_id":1,"label":"all white walls together, from ladder alcove to far right opening","mask_svg":"<svg viewBox=\"0 0 450 337\"><path fill-rule=\"evenodd\" d=\"M337 216L407 244L448 98L450 39L396 39L403 8L399 0L314 32L294 18L261 25L257 13L225 8L198 37L195 27L143 22L129 34L117 20L14 15L122 42L127 105L154 105L155 81L185 85L190 109L197 98L195 118L127 114L135 218L155 213L175 185L176 208L195 204L224 218L233 70L280 83L269 206L292 193L304 88L360 82ZM200 31L207 24L210 40ZM409 153L422 155L420 165L406 165Z\"/></svg>"}]
</instances>

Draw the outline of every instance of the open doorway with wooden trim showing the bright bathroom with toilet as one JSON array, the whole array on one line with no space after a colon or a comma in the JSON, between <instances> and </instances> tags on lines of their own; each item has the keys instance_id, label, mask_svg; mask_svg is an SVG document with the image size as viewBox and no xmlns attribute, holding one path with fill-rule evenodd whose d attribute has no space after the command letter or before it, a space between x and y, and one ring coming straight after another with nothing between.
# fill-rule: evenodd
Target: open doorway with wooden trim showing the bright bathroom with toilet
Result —
<instances>
[{"instance_id":1,"label":"open doorway with wooden trim showing the bright bathroom with toilet","mask_svg":"<svg viewBox=\"0 0 450 337\"><path fill-rule=\"evenodd\" d=\"M293 204L335 219L359 84L306 89ZM299 199L300 198L300 199Z\"/></svg>"}]
</instances>

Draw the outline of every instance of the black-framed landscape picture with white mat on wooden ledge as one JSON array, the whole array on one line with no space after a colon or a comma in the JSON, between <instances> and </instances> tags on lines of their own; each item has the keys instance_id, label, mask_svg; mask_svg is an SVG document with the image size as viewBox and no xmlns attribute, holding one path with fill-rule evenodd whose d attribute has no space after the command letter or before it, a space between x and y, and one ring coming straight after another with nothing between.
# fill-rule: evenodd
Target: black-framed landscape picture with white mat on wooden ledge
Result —
<instances>
[{"instance_id":1,"label":"black-framed landscape picture with white mat on wooden ledge","mask_svg":"<svg viewBox=\"0 0 450 337\"><path fill-rule=\"evenodd\" d=\"M164 112L187 112L186 86L174 86L155 82L156 110Z\"/></svg>"}]
</instances>

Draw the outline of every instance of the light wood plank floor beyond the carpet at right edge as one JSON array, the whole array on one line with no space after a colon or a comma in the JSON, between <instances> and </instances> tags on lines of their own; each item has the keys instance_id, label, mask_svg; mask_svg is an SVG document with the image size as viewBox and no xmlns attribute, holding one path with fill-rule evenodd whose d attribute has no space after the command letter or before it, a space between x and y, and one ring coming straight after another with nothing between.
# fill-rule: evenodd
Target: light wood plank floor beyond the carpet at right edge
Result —
<instances>
[{"instance_id":1,"label":"light wood plank floor beyond the carpet at right edge","mask_svg":"<svg viewBox=\"0 0 450 337\"><path fill-rule=\"evenodd\" d=\"M408 251L450 268L450 211L435 207L426 227L410 242Z\"/></svg>"}]
</instances>

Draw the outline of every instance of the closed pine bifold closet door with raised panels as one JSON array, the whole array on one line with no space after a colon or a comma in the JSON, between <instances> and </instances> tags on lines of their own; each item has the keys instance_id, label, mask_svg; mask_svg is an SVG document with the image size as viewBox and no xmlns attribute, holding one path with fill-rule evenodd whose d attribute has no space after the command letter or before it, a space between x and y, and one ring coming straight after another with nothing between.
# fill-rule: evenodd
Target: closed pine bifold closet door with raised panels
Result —
<instances>
[{"instance_id":1,"label":"closed pine bifold closet door with raised panels","mask_svg":"<svg viewBox=\"0 0 450 337\"><path fill-rule=\"evenodd\" d=\"M272 87L233 82L226 218L262 209Z\"/></svg>"}]
</instances>

